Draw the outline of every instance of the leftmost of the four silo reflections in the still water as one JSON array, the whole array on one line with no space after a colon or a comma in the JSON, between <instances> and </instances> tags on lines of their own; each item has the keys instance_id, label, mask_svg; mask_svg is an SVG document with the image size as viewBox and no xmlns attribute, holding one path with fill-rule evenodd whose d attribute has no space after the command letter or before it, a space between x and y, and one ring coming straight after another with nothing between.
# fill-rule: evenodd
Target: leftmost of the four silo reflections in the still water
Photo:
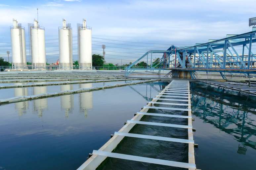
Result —
<instances>
[{"instance_id":1,"label":"leftmost of the four silo reflections in the still water","mask_svg":"<svg viewBox=\"0 0 256 170\"><path fill-rule=\"evenodd\" d=\"M22 83L15 83L15 85L22 85ZM14 88L14 96L27 96L27 88ZM25 113L25 110L28 108L28 101L22 101L15 103L15 109L19 112L19 116L22 116Z\"/></svg>"}]
</instances>

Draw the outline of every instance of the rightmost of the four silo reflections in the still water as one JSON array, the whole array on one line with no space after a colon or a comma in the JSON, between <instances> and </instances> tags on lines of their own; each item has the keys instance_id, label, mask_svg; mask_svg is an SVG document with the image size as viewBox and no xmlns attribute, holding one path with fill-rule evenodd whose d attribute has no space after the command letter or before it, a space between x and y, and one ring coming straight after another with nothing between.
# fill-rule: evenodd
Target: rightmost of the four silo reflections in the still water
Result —
<instances>
[{"instance_id":1,"label":"rightmost of the four silo reflections in the still water","mask_svg":"<svg viewBox=\"0 0 256 170\"><path fill-rule=\"evenodd\" d=\"M92 83L80 84L80 88L91 88ZM87 110L93 108L93 101L92 101L92 92L85 92L80 93L79 95L79 102L80 102L80 112L84 113L84 117L87 117Z\"/></svg>"}]
</instances>

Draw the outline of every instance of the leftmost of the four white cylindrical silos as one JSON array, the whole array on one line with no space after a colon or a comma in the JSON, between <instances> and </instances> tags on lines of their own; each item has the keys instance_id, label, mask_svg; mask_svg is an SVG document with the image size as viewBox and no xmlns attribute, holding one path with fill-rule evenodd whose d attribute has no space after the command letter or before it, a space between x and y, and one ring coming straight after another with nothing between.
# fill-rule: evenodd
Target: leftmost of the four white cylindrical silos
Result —
<instances>
[{"instance_id":1,"label":"leftmost of the four white cylindrical silos","mask_svg":"<svg viewBox=\"0 0 256 170\"><path fill-rule=\"evenodd\" d=\"M16 19L13 19L11 29L12 43L12 67L13 69L26 69L26 43L25 43L25 28L18 24Z\"/></svg>"}]
</instances>

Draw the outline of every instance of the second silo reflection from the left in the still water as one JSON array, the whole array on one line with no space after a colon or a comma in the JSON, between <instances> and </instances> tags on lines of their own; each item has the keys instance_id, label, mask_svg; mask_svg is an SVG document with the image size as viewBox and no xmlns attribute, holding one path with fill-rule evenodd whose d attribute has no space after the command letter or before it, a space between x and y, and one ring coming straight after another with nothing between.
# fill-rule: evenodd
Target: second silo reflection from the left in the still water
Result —
<instances>
[{"instance_id":1,"label":"second silo reflection from the left in the still water","mask_svg":"<svg viewBox=\"0 0 256 170\"><path fill-rule=\"evenodd\" d=\"M36 84L42 84L42 83L36 83ZM33 87L34 95L39 95L44 93L47 93L47 86ZM46 109L47 107L48 107L47 98L34 100L34 111L37 112L39 117L43 116L43 110Z\"/></svg>"}]
</instances>

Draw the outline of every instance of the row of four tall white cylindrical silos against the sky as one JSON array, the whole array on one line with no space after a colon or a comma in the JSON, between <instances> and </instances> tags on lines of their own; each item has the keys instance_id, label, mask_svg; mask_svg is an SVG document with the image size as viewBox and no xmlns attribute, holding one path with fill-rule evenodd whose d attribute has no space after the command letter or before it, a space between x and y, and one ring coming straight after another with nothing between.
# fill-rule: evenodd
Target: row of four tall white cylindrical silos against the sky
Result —
<instances>
[{"instance_id":1,"label":"row of four tall white cylindrical silos against the sky","mask_svg":"<svg viewBox=\"0 0 256 170\"><path fill-rule=\"evenodd\" d=\"M13 26L10 28L13 68L26 69L25 29L16 19L13 19ZM34 19L34 24L28 24L28 32L32 69L46 69L44 27ZM79 69L92 69L92 29L86 26L85 19L83 24L77 24L77 35ZM59 27L59 52L60 69L72 69L72 27L71 24L66 24L65 19L63 25Z\"/></svg>"}]
</instances>

